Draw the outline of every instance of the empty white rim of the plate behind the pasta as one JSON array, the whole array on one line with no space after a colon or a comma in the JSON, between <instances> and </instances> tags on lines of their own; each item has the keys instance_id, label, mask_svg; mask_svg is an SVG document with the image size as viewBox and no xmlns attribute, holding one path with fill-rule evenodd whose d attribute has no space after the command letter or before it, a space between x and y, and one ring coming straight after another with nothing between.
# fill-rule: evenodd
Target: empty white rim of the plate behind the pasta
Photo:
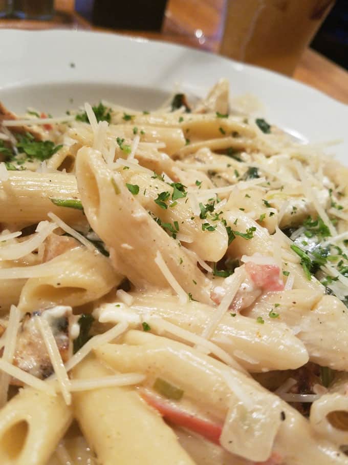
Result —
<instances>
[{"instance_id":1,"label":"empty white rim of the plate behind the pasta","mask_svg":"<svg viewBox=\"0 0 348 465\"><path fill-rule=\"evenodd\" d=\"M271 123L312 142L343 139L330 151L348 162L348 106L287 77L211 53L116 34L2 30L0 70L6 105L54 115L102 98L151 109L178 82L203 96L227 77L232 95L252 93L264 102Z\"/></svg>"}]
</instances>

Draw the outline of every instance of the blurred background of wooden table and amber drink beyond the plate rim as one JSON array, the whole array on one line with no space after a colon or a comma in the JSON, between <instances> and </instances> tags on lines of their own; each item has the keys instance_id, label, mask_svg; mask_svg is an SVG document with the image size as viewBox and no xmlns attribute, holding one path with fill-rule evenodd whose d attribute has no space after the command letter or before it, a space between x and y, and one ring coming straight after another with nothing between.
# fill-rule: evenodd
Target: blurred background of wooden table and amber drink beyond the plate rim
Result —
<instances>
[{"instance_id":1,"label":"blurred background of wooden table and amber drink beyond the plate rim","mask_svg":"<svg viewBox=\"0 0 348 465\"><path fill-rule=\"evenodd\" d=\"M348 104L348 0L0 0L2 28L160 39L286 74Z\"/></svg>"}]
</instances>

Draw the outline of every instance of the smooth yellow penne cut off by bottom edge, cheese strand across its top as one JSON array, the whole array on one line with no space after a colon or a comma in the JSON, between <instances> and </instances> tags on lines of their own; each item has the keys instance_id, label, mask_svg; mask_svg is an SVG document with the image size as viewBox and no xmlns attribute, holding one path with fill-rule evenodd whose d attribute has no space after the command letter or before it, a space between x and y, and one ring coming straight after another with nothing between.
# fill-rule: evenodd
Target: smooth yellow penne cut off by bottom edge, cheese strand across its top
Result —
<instances>
[{"instance_id":1,"label":"smooth yellow penne cut off by bottom edge, cheese strand across its top","mask_svg":"<svg viewBox=\"0 0 348 465\"><path fill-rule=\"evenodd\" d=\"M98 360L86 358L74 379L107 376ZM176 435L132 388L101 388L73 394L80 428L103 465L194 465Z\"/></svg>"}]
</instances>

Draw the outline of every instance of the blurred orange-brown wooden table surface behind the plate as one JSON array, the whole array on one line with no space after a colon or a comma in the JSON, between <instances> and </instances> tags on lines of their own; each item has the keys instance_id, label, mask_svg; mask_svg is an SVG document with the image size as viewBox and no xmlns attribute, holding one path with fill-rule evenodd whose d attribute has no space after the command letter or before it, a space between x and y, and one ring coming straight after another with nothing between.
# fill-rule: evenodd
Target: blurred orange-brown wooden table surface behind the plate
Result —
<instances>
[{"instance_id":1,"label":"blurred orange-brown wooden table surface behind the plate","mask_svg":"<svg viewBox=\"0 0 348 465\"><path fill-rule=\"evenodd\" d=\"M56 0L53 21L0 20L0 28L77 29L118 32L155 40L175 42L217 53L223 29L224 0L169 0L162 32L114 31L94 27L74 11L74 0ZM348 72L312 49L307 49L294 78L348 104Z\"/></svg>"}]
</instances>

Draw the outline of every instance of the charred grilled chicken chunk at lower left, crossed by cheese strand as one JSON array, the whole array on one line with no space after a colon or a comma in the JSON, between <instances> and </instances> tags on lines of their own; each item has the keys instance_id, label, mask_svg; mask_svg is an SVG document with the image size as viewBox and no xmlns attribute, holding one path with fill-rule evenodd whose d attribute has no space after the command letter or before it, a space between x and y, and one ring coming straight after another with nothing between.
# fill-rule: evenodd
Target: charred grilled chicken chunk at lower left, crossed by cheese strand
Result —
<instances>
[{"instance_id":1,"label":"charred grilled chicken chunk at lower left, crossed by cheese strand","mask_svg":"<svg viewBox=\"0 0 348 465\"><path fill-rule=\"evenodd\" d=\"M44 316L45 314L45 316ZM71 307L57 306L44 311L27 313L21 322L17 334L16 350L13 365L31 375L45 379L53 373L50 356L47 352L44 339L36 326L37 318L47 318L56 340L63 362L70 354L69 316ZM5 331L4 326L0 326ZM22 383L12 378L11 385L22 386Z\"/></svg>"}]
</instances>

